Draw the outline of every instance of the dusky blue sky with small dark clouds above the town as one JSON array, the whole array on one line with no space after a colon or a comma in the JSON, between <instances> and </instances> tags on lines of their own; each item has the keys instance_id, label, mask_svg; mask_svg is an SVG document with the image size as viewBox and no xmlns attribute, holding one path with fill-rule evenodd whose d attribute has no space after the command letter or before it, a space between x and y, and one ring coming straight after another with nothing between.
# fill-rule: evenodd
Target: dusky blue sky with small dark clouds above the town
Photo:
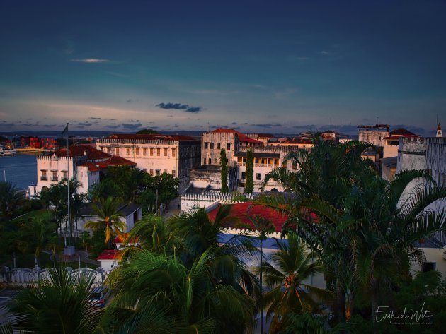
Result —
<instances>
[{"instance_id":1,"label":"dusky blue sky with small dark clouds above the town","mask_svg":"<svg viewBox=\"0 0 446 334\"><path fill-rule=\"evenodd\" d=\"M0 133L446 124L446 0L0 0Z\"/></svg>"}]
</instances>

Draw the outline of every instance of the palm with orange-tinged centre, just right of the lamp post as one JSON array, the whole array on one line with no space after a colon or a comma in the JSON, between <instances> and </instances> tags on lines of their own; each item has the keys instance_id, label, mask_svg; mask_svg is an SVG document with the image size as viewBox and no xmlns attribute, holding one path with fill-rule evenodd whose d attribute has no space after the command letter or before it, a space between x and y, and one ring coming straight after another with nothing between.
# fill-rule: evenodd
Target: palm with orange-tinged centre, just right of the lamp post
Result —
<instances>
[{"instance_id":1,"label":"palm with orange-tinged centre, just right of the lamp post","mask_svg":"<svg viewBox=\"0 0 446 334\"><path fill-rule=\"evenodd\" d=\"M267 318L273 317L270 330L275 333L285 316L292 312L317 311L317 299L329 297L329 292L304 283L305 280L322 271L319 260L307 251L304 242L295 235L286 241L278 241L279 251L265 263L265 283L271 290L265 294L269 304Z\"/></svg>"}]
</instances>

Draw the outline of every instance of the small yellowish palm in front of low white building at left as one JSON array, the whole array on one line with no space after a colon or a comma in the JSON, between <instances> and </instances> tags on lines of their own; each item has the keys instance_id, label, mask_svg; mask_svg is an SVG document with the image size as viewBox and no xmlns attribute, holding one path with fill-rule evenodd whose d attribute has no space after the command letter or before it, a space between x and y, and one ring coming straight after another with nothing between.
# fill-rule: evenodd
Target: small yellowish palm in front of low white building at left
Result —
<instances>
[{"instance_id":1,"label":"small yellowish palm in front of low white building at left","mask_svg":"<svg viewBox=\"0 0 446 334\"><path fill-rule=\"evenodd\" d=\"M111 246L114 236L121 236L125 229L125 222L120 220L122 213L120 213L120 202L113 197L101 199L98 204L93 204L93 210L98 215L98 220L86 222L85 227L101 230L105 232L105 244Z\"/></svg>"}]
</instances>

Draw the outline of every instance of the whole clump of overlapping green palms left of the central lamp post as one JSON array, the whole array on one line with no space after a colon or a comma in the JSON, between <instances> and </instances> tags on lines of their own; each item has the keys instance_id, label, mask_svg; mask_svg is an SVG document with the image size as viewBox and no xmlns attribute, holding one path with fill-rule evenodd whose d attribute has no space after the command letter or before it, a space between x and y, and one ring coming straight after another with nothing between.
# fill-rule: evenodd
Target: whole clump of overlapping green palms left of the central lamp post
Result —
<instances>
[{"instance_id":1,"label":"whole clump of overlapping green palms left of the central lamp post","mask_svg":"<svg viewBox=\"0 0 446 334\"><path fill-rule=\"evenodd\" d=\"M251 253L245 242L218 244L228 214L224 206L214 223L204 209L166 223L153 215L138 222L131 238L144 248L132 249L108 278L115 295L101 321L105 333L252 330L256 279L239 260Z\"/></svg>"}]
</instances>

